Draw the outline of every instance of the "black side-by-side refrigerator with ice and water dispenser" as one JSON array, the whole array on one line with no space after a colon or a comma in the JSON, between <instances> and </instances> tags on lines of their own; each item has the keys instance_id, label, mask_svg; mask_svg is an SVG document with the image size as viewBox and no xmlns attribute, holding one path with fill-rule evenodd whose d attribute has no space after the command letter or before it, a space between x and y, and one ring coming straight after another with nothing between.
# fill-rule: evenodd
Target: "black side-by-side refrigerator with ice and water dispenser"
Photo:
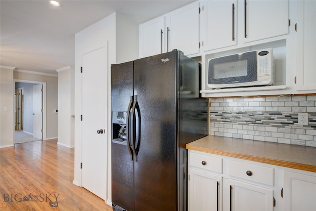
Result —
<instances>
[{"instance_id":1,"label":"black side-by-side refrigerator with ice and water dispenser","mask_svg":"<svg viewBox=\"0 0 316 211\"><path fill-rule=\"evenodd\" d=\"M173 50L111 66L114 211L186 211L185 144L207 135L200 64Z\"/></svg>"}]
</instances>

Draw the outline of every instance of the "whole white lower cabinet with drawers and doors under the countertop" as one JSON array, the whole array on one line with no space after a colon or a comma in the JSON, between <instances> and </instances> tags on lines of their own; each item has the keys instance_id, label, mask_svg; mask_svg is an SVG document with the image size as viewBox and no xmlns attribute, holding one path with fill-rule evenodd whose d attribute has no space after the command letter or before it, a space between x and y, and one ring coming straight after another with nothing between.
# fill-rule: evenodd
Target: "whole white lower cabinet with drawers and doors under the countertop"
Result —
<instances>
[{"instance_id":1,"label":"whole white lower cabinet with drawers and doors under the countertop","mask_svg":"<svg viewBox=\"0 0 316 211\"><path fill-rule=\"evenodd\" d=\"M316 173L189 150L189 211L316 211Z\"/></svg>"}]
</instances>

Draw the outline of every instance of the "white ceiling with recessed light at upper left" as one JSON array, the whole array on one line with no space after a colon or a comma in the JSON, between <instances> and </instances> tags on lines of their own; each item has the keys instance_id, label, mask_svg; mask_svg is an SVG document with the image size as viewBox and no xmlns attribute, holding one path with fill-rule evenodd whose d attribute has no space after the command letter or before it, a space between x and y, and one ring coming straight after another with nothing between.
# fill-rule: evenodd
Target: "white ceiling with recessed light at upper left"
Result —
<instances>
[{"instance_id":1,"label":"white ceiling with recessed light at upper left","mask_svg":"<svg viewBox=\"0 0 316 211\"><path fill-rule=\"evenodd\" d=\"M0 0L0 65L56 75L75 65L75 34L117 11L143 23L195 0Z\"/></svg>"}]
</instances>

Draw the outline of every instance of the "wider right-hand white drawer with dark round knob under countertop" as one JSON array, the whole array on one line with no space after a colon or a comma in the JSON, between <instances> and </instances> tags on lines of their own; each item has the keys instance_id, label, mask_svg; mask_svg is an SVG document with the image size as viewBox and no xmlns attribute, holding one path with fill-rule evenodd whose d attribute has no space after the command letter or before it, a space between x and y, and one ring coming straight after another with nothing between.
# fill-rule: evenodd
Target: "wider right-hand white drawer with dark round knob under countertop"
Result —
<instances>
[{"instance_id":1,"label":"wider right-hand white drawer with dark round knob under countertop","mask_svg":"<svg viewBox=\"0 0 316 211\"><path fill-rule=\"evenodd\" d=\"M229 175L274 186L274 168L229 161Z\"/></svg>"}]
</instances>

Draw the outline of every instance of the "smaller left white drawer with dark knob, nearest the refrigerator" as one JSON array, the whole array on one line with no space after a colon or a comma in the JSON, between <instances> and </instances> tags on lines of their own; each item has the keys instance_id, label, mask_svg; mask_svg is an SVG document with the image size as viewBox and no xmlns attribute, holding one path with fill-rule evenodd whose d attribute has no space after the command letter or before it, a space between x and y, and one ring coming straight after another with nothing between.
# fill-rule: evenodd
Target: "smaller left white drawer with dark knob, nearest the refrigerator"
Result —
<instances>
[{"instance_id":1,"label":"smaller left white drawer with dark knob, nearest the refrigerator","mask_svg":"<svg viewBox=\"0 0 316 211\"><path fill-rule=\"evenodd\" d=\"M223 173L223 159L190 152L190 166Z\"/></svg>"}]
</instances>

